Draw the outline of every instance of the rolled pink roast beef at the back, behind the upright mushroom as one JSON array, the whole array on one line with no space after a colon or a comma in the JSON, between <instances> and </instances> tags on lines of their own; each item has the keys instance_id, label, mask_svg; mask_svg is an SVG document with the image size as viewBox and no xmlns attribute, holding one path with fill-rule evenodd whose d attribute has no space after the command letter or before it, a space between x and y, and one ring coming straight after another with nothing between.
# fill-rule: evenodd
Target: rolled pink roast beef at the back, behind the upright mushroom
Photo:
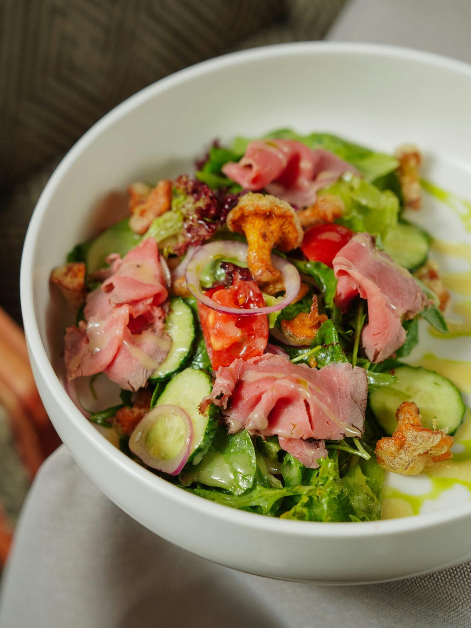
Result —
<instances>
[{"instance_id":1,"label":"rolled pink roast beef at the back, behind the upright mushroom","mask_svg":"<svg viewBox=\"0 0 471 628\"><path fill-rule=\"evenodd\" d=\"M345 172L358 174L335 154L289 139L250 142L241 161L225 164L222 171L246 190L265 188L298 207L314 203L317 191Z\"/></svg>"}]
</instances>

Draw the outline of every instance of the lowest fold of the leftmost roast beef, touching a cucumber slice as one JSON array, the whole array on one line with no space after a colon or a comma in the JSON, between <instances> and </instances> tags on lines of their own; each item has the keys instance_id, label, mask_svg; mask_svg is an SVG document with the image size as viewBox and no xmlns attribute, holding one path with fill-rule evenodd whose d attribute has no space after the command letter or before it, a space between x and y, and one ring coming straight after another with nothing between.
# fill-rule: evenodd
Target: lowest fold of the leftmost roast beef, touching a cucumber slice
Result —
<instances>
[{"instance_id":1,"label":"lowest fold of the leftmost roast beef, touching a cucumber slice","mask_svg":"<svg viewBox=\"0 0 471 628\"><path fill-rule=\"evenodd\" d=\"M126 327L114 360L104 372L121 388L137 391L165 360L170 345L166 333L145 330L133 334Z\"/></svg>"}]
</instances>

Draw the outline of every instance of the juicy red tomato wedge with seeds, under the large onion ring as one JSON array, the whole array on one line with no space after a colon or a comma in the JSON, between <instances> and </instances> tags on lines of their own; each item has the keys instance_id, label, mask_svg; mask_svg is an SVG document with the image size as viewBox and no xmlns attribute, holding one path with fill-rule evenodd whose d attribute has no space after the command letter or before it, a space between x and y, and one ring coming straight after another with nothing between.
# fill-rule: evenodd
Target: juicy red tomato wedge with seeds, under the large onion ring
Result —
<instances>
[{"instance_id":1,"label":"juicy red tomato wedge with seeds, under the large onion ring","mask_svg":"<svg viewBox=\"0 0 471 628\"><path fill-rule=\"evenodd\" d=\"M241 279L235 273L229 288L217 286L205 291L215 303L244 310L265 306L255 281ZM268 318L264 314L237 317L212 310L198 301L203 336L211 365L216 371L240 357L248 360L262 355L268 342Z\"/></svg>"}]
</instances>

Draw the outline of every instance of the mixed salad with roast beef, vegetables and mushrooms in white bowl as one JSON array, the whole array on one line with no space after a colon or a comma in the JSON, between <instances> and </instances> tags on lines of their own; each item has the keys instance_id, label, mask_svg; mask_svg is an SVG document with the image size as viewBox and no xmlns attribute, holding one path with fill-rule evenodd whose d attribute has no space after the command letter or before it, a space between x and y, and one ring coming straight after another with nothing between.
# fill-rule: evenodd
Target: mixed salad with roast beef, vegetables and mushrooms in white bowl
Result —
<instances>
[{"instance_id":1,"label":"mixed salad with roast beef, vegetables and mushrooms in white bowl","mask_svg":"<svg viewBox=\"0 0 471 628\"><path fill-rule=\"evenodd\" d=\"M403 361L420 318L448 332L431 239L403 216L420 211L420 165L414 146L383 154L283 129L133 183L129 215L51 273L76 317L63 350L73 401L200 497L380 519L385 472L451 458L465 414L447 377Z\"/></svg>"}]
</instances>

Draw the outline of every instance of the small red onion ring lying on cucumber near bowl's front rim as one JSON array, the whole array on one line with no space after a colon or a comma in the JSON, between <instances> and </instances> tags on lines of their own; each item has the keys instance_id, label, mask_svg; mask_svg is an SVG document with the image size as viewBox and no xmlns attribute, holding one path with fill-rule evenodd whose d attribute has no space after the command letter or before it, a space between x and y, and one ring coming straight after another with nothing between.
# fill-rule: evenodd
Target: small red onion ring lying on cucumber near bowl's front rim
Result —
<instances>
[{"instance_id":1,"label":"small red onion ring lying on cucumber near bowl's front rim","mask_svg":"<svg viewBox=\"0 0 471 628\"><path fill-rule=\"evenodd\" d=\"M185 426L185 435L183 436L183 443L180 451L170 460L165 460L156 455L152 455L152 453L149 452L148 447L146 447L146 440L149 432L157 421L169 416L178 417L183 421L183 425ZM192 441L192 436L192 420L183 408L173 406L171 404L156 406L156 408L148 412L146 416L139 421L135 430L131 434L131 438L129 438L129 449L131 452L136 454L136 456L141 458L141 460L146 463L148 467L163 471L169 475L177 475L185 466L185 463L190 456L190 443Z\"/></svg>"}]
</instances>

